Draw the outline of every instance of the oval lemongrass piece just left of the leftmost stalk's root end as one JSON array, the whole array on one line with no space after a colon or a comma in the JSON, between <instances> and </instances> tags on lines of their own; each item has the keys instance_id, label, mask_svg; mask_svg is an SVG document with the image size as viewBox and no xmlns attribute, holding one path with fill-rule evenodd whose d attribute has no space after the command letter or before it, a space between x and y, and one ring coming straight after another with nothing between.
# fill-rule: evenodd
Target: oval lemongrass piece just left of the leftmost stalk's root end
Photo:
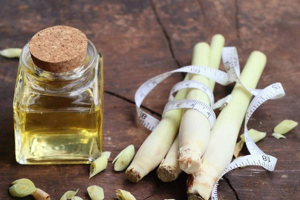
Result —
<instances>
[{"instance_id":1,"label":"oval lemongrass piece just left of the leftmost stalk's root end","mask_svg":"<svg viewBox=\"0 0 300 200\"><path fill-rule=\"evenodd\" d=\"M124 170L131 162L134 155L134 146L131 144L124 148L112 161L115 171Z\"/></svg>"}]
</instances>

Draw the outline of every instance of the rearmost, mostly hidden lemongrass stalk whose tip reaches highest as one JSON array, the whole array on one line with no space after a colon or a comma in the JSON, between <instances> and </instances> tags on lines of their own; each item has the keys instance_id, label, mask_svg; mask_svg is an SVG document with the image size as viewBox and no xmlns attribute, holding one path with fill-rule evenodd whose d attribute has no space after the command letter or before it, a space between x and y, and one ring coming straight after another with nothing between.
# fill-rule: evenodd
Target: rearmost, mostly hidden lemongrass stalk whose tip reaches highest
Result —
<instances>
[{"instance_id":1,"label":"rearmost, mostly hidden lemongrass stalk whose tip reaches highest","mask_svg":"<svg viewBox=\"0 0 300 200\"><path fill-rule=\"evenodd\" d=\"M211 68L218 68L221 60L222 47L224 46L225 39L221 34L215 34L211 38L210 42L210 56L209 66ZM215 82L209 79L208 86L213 91ZM164 182L175 180L178 175L182 172L179 168L179 155L178 155L178 135L173 141L170 149L168 150L165 158L161 161L157 168L157 176Z\"/></svg>"}]
</instances>

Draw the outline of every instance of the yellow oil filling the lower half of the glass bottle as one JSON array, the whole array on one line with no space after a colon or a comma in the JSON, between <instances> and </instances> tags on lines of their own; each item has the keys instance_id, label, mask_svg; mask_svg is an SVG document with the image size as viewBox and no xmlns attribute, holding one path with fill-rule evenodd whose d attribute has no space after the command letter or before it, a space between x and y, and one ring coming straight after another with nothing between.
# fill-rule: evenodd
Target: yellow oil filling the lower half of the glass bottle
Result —
<instances>
[{"instance_id":1,"label":"yellow oil filling the lower half of the glass bottle","mask_svg":"<svg viewBox=\"0 0 300 200\"><path fill-rule=\"evenodd\" d=\"M101 111L39 112L16 110L20 149L17 161L90 163L101 152Z\"/></svg>"}]
</instances>

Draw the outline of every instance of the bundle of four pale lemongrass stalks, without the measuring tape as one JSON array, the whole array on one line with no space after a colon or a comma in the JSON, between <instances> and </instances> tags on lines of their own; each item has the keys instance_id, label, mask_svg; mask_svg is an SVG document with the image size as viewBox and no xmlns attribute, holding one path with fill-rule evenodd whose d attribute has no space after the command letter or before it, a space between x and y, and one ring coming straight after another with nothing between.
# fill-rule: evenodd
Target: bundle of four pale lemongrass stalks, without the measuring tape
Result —
<instances>
[{"instance_id":1,"label":"bundle of four pale lemongrass stalks, without the measuring tape","mask_svg":"<svg viewBox=\"0 0 300 200\"><path fill-rule=\"evenodd\" d=\"M218 68L223 45L224 37L220 34L212 37L210 46L205 42L197 43L191 64ZM262 52L251 53L240 75L246 87L256 87L265 62ZM213 80L197 74L188 73L184 80L203 82L211 90L215 84ZM126 170L127 178L137 182L160 163L157 169L159 179L172 181L184 171L189 174L189 199L208 199L215 181L232 159L237 135L251 99L251 94L240 84L234 86L231 95L231 101L221 110L211 129L208 119L197 110L167 111L138 149ZM209 105L207 95L199 89L180 89L175 99L183 98L200 100Z\"/></svg>"}]
</instances>

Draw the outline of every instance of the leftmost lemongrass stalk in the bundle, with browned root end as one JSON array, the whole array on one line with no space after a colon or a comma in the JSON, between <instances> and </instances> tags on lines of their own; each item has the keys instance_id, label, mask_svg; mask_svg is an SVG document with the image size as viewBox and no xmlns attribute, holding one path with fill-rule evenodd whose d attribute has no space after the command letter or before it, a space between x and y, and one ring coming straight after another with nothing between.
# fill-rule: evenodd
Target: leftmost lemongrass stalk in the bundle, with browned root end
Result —
<instances>
[{"instance_id":1,"label":"leftmost lemongrass stalk in the bundle, with browned root end","mask_svg":"<svg viewBox=\"0 0 300 200\"><path fill-rule=\"evenodd\" d=\"M195 63L192 62L192 64ZM189 76L190 74L187 73L184 80L188 80ZM186 93L187 89L180 89L174 99L183 99ZM158 125L139 147L131 164L127 167L126 176L128 180L131 182L139 181L161 162L178 133L181 115L182 109L169 110L164 114Z\"/></svg>"}]
</instances>

